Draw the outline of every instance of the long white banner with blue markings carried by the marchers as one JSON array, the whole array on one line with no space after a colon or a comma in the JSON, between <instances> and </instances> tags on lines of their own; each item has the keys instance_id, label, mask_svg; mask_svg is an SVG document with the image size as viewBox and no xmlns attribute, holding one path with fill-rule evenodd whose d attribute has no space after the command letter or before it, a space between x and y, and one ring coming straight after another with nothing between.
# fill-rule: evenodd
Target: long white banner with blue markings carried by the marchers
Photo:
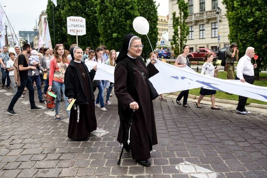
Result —
<instances>
[{"instance_id":1,"label":"long white banner with blue markings carried by the marchers","mask_svg":"<svg viewBox=\"0 0 267 178\"><path fill-rule=\"evenodd\" d=\"M86 63L89 71L94 65L97 65L95 80L114 82L115 67L93 61ZM157 60L155 67L159 73L149 80L159 94L203 87L267 102L267 87L243 83L240 80L223 80L202 75L188 66L176 67L160 60Z\"/></svg>"}]
</instances>

